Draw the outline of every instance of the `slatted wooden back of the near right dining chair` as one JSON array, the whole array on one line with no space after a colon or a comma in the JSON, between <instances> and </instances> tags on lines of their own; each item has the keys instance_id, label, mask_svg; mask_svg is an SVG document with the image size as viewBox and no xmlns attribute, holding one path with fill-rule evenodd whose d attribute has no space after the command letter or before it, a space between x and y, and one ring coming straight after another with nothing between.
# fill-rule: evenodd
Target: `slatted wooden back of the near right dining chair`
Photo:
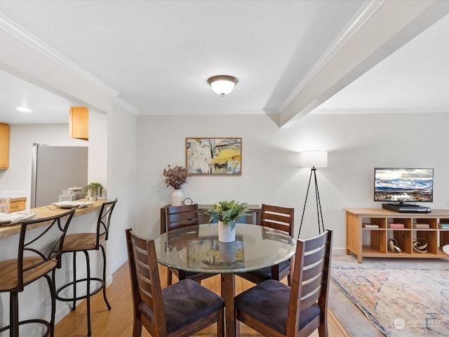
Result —
<instances>
[{"instance_id":1,"label":"slatted wooden back of the near right dining chair","mask_svg":"<svg viewBox=\"0 0 449 337\"><path fill-rule=\"evenodd\" d=\"M298 240L290 292L288 326L299 324L300 312L318 303L326 312L330 276L332 231L318 237ZM295 330L297 331L297 330Z\"/></svg>"}]
</instances>

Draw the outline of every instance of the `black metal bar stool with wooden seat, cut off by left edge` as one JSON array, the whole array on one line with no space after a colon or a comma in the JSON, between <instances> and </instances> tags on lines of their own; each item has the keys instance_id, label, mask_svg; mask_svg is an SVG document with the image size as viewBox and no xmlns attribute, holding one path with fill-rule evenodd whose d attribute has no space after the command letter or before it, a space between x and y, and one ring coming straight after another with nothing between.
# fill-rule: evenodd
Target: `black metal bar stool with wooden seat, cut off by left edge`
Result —
<instances>
[{"instance_id":1,"label":"black metal bar stool with wooden seat, cut off by left edge","mask_svg":"<svg viewBox=\"0 0 449 337\"><path fill-rule=\"evenodd\" d=\"M2 327L0 334L2 331L9 330L9 336L18 337L19 326L41 324L45 326L43 336L54 336L55 283L48 273L60 267L62 244L64 244L65 233L74 212L75 210L71 210L57 216L35 218L22 223L18 242L18 258L0 262L0 293L9 292L10 294L9 325ZM63 223L63 219L65 219L65 223ZM24 291L25 286L41 277L46 278L48 289L50 289L51 318L48 321L43 317L27 318L20 321L19 293ZM33 325L32 329L36 330L36 326Z\"/></svg>"}]
</instances>

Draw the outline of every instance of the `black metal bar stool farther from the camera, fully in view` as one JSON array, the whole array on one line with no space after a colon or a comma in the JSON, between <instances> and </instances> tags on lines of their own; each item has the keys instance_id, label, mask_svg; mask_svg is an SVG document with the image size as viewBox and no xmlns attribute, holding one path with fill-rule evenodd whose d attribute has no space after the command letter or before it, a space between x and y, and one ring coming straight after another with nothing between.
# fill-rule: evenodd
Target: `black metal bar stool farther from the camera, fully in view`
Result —
<instances>
[{"instance_id":1,"label":"black metal bar stool farther from the camera, fully in view","mask_svg":"<svg viewBox=\"0 0 449 337\"><path fill-rule=\"evenodd\" d=\"M56 291L56 298L64 302L72 302L72 310L76 309L76 300L87 300L87 334L91 336L91 296L95 295L99 291L103 291L103 298L105 298L105 303L107 309L111 310L111 305L106 298L106 253L103 243L107 241L109 235L109 223L111 221L112 211L117 202L106 201L102 204L100 209L100 214L97 220L97 231L90 233L74 233L68 234L65 237L64 246L62 247L62 253L73 253L73 281L61 286L58 291ZM91 277L91 264L89 262L88 251L98 251L101 249L103 256L103 275L100 279L99 277ZM76 253L82 251L86 256L86 270L87 275L85 278L76 279ZM55 275L53 273L53 282ZM81 282L86 282L86 294L77 296L76 295L76 284ZM100 282L100 286L96 287L91 291L91 282ZM69 286L73 286L73 297L67 298L60 296L60 292Z\"/></svg>"}]
</instances>

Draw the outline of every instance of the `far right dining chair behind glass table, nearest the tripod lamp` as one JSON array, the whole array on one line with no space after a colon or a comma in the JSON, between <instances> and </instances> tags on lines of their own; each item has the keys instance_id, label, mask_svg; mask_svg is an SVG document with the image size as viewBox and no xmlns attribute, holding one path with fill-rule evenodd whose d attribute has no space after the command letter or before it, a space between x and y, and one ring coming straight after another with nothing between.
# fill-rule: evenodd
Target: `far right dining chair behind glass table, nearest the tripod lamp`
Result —
<instances>
[{"instance_id":1,"label":"far right dining chair behind glass table, nearest the tripod lamp","mask_svg":"<svg viewBox=\"0 0 449 337\"><path fill-rule=\"evenodd\" d=\"M262 204L260 211L260 225L269 229L273 228L281 230L293 237L293 225L295 221L295 209L287 207L273 206ZM265 232L269 234L269 230ZM279 234L276 234L279 237ZM272 238L270 238L272 239ZM279 238L281 239L281 238ZM239 272L236 275L247 279L250 282L259 284L267 279L276 279L281 281L284 277L287 277L288 285L291 285L291 265L293 265L293 258L286 260L278 265L272 267L262 268L260 270L254 270L253 272Z\"/></svg>"}]
</instances>

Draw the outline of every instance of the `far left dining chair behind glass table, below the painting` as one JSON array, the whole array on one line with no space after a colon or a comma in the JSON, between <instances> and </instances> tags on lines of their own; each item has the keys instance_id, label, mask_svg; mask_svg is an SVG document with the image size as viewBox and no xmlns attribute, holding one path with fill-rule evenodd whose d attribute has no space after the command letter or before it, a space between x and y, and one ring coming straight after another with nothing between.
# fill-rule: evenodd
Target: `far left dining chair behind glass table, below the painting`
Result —
<instances>
[{"instance_id":1,"label":"far left dining chair behind glass table, below the painting","mask_svg":"<svg viewBox=\"0 0 449 337\"><path fill-rule=\"evenodd\" d=\"M199 207L198 204L187 206L168 206L166 209L166 232L179 228L185 228L192 225L199 225ZM172 238L173 239L173 238ZM169 267L167 270L167 286L173 282L173 274L177 279L193 279L201 284L202 279L213 277L215 274L207 272L187 272Z\"/></svg>"}]
</instances>

